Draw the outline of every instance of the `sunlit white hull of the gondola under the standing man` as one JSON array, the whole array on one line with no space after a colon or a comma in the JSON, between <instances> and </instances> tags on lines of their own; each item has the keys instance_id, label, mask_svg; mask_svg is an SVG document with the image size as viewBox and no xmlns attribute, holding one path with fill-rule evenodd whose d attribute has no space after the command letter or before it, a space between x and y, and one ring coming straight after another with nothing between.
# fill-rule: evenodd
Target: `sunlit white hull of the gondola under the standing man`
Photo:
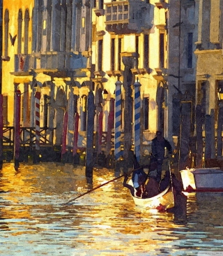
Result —
<instances>
[{"instance_id":1,"label":"sunlit white hull of the gondola under the standing man","mask_svg":"<svg viewBox=\"0 0 223 256\"><path fill-rule=\"evenodd\" d=\"M133 186L132 179L128 182L129 185ZM135 190L136 192L137 190ZM135 193L134 193L135 194ZM132 196L132 194L131 194ZM143 208L156 209L162 206L165 210L174 207L174 194L169 185L164 191L157 194L155 197L150 198L140 198L132 196L134 204Z\"/></svg>"}]
</instances>

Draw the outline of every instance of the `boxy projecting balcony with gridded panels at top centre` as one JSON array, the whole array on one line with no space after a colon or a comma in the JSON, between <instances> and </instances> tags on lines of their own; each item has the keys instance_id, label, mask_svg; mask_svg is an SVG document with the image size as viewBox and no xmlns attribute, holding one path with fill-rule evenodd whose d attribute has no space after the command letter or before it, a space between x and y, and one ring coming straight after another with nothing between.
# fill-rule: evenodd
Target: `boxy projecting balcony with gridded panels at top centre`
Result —
<instances>
[{"instance_id":1,"label":"boxy projecting balcony with gridded panels at top centre","mask_svg":"<svg viewBox=\"0 0 223 256\"><path fill-rule=\"evenodd\" d=\"M114 1L105 5L105 24L109 33L140 33L141 29L151 28L151 24L146 22L146 13L149 13L151 5L146 1Z\"/></svg>"}]
</instances>

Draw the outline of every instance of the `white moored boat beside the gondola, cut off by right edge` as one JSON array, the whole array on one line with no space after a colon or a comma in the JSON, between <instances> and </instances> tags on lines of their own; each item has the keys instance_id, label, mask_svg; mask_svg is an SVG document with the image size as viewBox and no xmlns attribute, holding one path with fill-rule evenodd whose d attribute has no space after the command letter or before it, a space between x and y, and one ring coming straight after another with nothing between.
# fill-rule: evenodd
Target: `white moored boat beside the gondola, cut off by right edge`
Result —
<instances>
[{"instance_id":1,"label":"white moored boat beside the gondola, cut off by right edge","mask_svg":"<svg viewBox=\"0 0 223 256\"><path fill-rule=\"evenodd\" d=\"M200 168L180 171L185 191L223 191L223 171L220 168Z\"/></svg>"}]
</instances>

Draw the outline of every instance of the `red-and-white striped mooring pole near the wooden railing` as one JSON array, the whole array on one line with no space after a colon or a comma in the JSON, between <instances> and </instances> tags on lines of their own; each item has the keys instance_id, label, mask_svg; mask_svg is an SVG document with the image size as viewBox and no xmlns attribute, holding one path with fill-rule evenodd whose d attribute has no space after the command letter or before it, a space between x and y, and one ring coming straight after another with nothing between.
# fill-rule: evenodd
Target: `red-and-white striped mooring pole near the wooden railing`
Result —
<instances>
[{"instance_id":1,"label":"red-and-white striped mooring pole near the wooden railing","mask_svg":"<svg viewBox=\"0 0 223 256\"><path fill-rule=\"evenodd\" d=\"M39 162L40 155L40 92L35 94L35 105L36 105L36 157Z\"/></svg>"}]
</instances>

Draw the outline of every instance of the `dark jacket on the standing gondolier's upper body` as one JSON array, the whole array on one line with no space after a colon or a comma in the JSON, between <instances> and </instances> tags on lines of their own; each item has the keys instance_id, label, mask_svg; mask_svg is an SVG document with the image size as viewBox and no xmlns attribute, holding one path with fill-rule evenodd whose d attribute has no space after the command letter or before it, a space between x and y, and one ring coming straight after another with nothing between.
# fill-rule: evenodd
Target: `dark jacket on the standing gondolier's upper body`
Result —
<instances>
[{"instance_id":1,"label":"dark jacket on the standing gondolier's upper body","mask_svg":"<svg viewBox=\"0 0 223 256\"><path fill-rule=\"evenodd\" d=\"M172 153L172 147L169 141L166 140L166 138L163 138L163 141L158 141L157 138L153 138L151 144L153 157L155 157L156 159L164 159L164 148L167 148L169 154Z\"/></svg>"}]
</instances>

